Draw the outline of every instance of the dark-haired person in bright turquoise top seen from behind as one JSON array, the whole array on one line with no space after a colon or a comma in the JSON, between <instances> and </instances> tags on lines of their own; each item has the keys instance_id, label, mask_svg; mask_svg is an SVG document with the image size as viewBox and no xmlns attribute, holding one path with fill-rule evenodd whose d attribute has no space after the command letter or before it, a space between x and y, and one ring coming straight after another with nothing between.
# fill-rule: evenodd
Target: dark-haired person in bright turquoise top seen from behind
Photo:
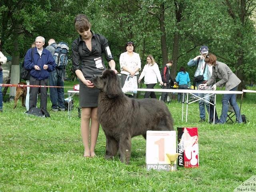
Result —
<instances>
[{"instance_id":1,"label":"dark-haired person in bright turquoise top seen from behind","mask_svg":"<svg viewBox=\"0 0 256 192\"><path fill-rule=\"evenodd\" d=\"M179 85L178 89L188 89L188 83L190 82L189 74L186 72L185 67L180 67L180 72L176 76L175 84ZM178 93L178 102L181 102L181 93Z\"/></svg>"}]
</instances>

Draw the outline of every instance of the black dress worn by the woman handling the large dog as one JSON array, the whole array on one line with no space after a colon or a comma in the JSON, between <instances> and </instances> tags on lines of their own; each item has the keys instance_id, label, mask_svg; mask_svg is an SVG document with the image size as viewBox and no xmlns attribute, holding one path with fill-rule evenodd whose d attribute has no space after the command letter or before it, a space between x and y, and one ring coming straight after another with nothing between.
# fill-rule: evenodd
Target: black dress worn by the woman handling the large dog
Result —
<instances>
[{"instance_id":1,"label":"black dress worn by the woman handling the large dog","mask_svg":"<svg viewBox=\"0 0 256 192\"><path fill-rule=\"evenodd\" d=\"M86 47L86 43L79 36L72 43L73 71L81 70L86 80L90 80L94 74L102 74L106 69L103 53L108 62L113 59L108 47L108 40L104 36L92 32L92 51ZM81 81L79 85L80 107L97 107L100 90L97 88L88 88Z\"/></svg>"}]
</instances>

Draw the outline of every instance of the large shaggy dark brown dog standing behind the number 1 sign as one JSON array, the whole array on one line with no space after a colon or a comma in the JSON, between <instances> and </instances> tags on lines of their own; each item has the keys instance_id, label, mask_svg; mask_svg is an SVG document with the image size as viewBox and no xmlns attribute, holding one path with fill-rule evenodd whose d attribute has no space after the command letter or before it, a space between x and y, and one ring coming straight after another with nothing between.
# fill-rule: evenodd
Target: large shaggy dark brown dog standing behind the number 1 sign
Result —
<instances>
[{"instance_id":1,"label":"large shaggy dark brown dog standing behind the number 1 sign","mask_svg":"<svg viewBox=\"0 0 256 192\"><path fill-rule=\"evenodd\" d=\"M128 164L131 155L131 138L147 130L173 130L173 120L164 102L156 99L132 99L122 92L118 76L105 70L91 81L100 89L98 98L98 120L106 135L105 158L114 157Z\"/></svg>"}]
</instances>

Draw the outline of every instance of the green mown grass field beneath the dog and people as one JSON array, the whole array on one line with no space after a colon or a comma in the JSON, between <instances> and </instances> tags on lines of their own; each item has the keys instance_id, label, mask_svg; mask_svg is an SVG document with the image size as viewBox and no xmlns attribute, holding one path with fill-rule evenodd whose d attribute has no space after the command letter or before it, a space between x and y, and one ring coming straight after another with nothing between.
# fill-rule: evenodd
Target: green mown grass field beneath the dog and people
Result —
<instances>
[{"instance_id":1,"label":"green mown grass field beneath the dog and people","mask_svg":"<svg viewBox=\"0 0 256 192\"><path fill-rule=\"evenodd\" d=\"M212 125L199 123L198 104L189 106L188 122L181 121L182 105L168 104L175 128L197 126L200 168L178 167L177 172L146 171L146 141L132 139L130 164L118 158L104 160L105 136L100 129L96 158L84 158L80 119L76 108L67 112L50 111L51 118L24 114L19 104L4 103L0 114L0 191L173 191L232 192L256 175L256 100L247 94L242 104L248 124ZM75 106L78 98L75 96ZM221 96L217 111L221 112ZM240 102L240 101L239 101Z\"/></svg>"}]
</instances>

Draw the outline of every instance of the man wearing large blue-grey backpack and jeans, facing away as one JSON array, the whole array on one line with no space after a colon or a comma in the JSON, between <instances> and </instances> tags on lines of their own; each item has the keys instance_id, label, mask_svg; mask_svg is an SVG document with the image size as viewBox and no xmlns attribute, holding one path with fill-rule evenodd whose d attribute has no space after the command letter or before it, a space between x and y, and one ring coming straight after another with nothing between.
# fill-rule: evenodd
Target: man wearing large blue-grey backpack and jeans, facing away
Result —
<instances>
[{"instance_id":1,"label":"man wearing large blue-grey backpack and jeans, facing away","mask_svg":"<svg viewBox=\"0 0 256 192\"><path fill-rule=\"evenodd\" d=\"M50 73L49 84L50 86L64 86L65 67L68 62L68 46L64 42L56 44L54 39L48 41L46 47L54 58L56 68ZM53 111L65 111L64 105L64 88L50 88L50 99L52 102Z\"/></svg>"}]
</instances>

